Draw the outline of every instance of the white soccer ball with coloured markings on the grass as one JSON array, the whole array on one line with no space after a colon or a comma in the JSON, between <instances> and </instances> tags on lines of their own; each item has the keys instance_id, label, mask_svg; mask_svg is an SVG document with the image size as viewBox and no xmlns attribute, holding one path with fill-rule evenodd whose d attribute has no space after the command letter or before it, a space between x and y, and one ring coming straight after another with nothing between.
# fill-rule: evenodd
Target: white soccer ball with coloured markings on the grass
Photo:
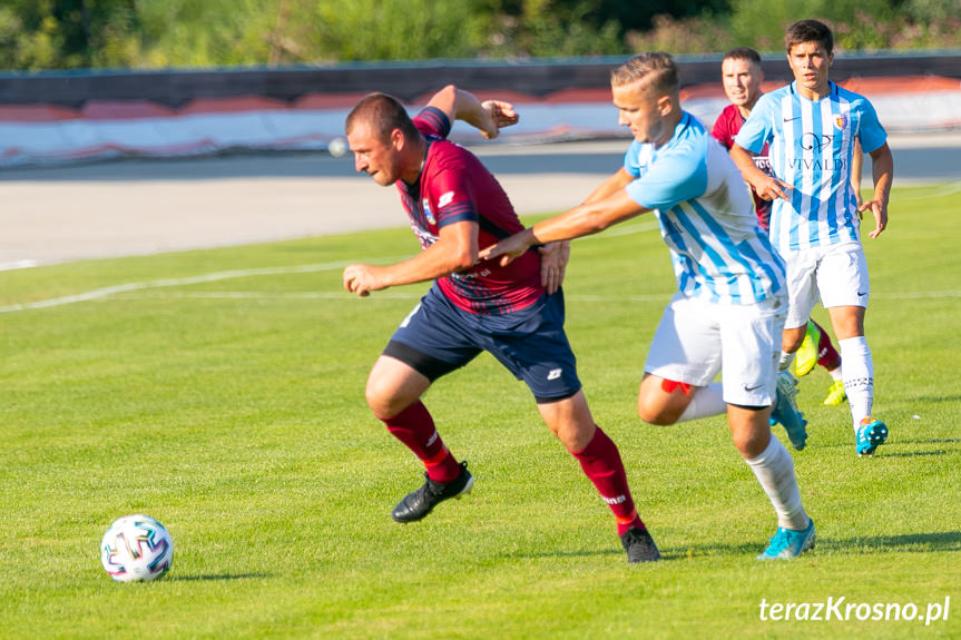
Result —
<instances>
[{"instance_id":1,"label":"white soccer ball with coloured markings on the grass","mask_svg":"<svg viewBox=\"0 0 961 640\"><path fill-rule=\"evenodd\" d=\"M147 582L164 575L174 561L174 540L149 515L120 518L100 542L100 562L117 582Z\"/></svg>"}]
</instances>

